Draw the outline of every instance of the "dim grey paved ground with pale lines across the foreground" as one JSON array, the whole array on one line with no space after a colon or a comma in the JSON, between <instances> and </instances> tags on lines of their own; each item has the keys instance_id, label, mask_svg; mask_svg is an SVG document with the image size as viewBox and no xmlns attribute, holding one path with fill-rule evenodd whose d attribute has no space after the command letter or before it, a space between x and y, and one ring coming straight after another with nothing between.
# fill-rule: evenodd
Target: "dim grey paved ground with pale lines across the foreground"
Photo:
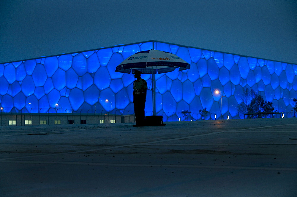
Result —
<instances>
[{"instance_id":1,"label":"dim grey paved ground with pale lines across the foreground","mask_svg":"<svg viewBox=\"0 0 297 197\"><path fill-rule=\"evenodd\" d=\"M0 196L297 196L297 119L1 127Z\"/></svg>"}]
</instances>

